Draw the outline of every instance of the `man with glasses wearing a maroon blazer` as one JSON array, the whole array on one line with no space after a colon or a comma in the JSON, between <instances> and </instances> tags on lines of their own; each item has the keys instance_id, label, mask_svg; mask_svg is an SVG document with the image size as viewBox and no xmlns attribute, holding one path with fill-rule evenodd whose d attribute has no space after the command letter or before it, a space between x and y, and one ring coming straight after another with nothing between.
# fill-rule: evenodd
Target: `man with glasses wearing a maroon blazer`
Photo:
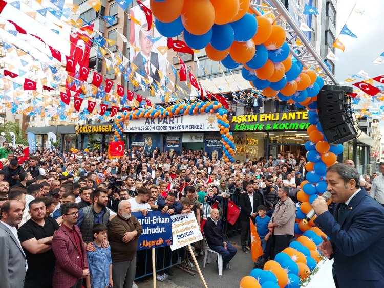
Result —
<instances>
[{"instance_id":1,"label":"man with glasses wearing a maroon blazer","mask_svg":"<svg viewBox=\"0 0 384 288\"><path fill-rule=\"evenodd\" d=\"M52 250L56 267L54 288L81 288L82 279L89 275L87 252L77 225L77 203L65 203L60 207L62 225L53 235Z\"/></svg>"}]
</instances>

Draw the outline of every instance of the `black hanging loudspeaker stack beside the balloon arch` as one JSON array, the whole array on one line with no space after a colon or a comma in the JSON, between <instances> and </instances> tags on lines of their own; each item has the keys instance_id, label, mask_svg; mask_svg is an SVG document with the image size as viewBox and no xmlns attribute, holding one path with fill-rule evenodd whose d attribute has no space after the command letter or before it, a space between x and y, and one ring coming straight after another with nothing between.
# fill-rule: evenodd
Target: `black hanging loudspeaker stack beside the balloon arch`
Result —
<instances>
[{"instance_id":1,"label":"black hanging loudspeaker stack beside the balloon arch","mask_svg":"<svg viewBox=\"0 0 384 288\"><path fill-rule=\"evenodd\" d=\"M325 137L340 144L356 137L352 124L350 97L343 90L321 90L317 96L318 118Z\"/></svg>"}]
</instances>

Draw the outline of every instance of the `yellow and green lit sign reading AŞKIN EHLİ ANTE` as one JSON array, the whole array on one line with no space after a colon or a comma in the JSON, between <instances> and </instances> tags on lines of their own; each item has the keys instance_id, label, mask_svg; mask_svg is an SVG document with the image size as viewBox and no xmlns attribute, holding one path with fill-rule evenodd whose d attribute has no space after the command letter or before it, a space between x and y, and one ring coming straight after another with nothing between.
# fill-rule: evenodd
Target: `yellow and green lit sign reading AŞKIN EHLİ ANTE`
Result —
<instances>
[{"instance_id":1,"label":"yellow and green lit sign reading A\u015eKIN EHL\u0130 ANTE","mask_svg":"<svg viewBox=\"0 0 384 288\"><path fill-rule=\"evenodd\" d=\"M238 115L228 118L230 131L300 131L306 130L308 111Z\"/></svg>"}]
</instances>

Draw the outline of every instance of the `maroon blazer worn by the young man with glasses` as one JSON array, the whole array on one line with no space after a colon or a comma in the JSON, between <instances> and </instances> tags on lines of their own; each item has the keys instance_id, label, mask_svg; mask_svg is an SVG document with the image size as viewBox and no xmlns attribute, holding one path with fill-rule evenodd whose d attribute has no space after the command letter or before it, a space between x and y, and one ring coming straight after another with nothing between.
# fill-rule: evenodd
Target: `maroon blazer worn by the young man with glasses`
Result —
<instances>
[{"instance_id":1,"label":"maroon blazer worn by the young man with glasses","mask_svg":"<svg viewBox=\"0 0 384 288\"><path fill-rule=\"evenodd\" d=\"M81 262L80 251L77 250L73 235L70 235L71 232L62 224L52 239L52 250L56 257L52 283L54 288L72 287L81 278L83 269L88 269L87 252L80 229L77 225L74 225L73 229L80 235L83 261Z\"/></svg>"}]
</instances>

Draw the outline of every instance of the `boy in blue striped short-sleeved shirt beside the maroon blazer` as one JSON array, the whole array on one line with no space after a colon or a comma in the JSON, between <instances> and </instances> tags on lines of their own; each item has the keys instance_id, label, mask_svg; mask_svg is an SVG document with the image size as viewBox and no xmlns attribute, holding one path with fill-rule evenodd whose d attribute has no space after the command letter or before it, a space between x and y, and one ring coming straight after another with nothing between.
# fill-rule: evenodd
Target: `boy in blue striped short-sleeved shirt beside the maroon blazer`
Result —
<instances>
[{"instance_id":1,"label":"boy in blue striped short-sleeved shirt beside the maroon blazer","mask_svg":"<svg viewBox=\"0 0 384 288\"><path fill-rule=\"evenodd\" d=\"M95 224L92 232L95 238L93 244L96 251L87 252L90 276L86 278L87 288L113 287L111 246L103 249L102 242L106 240L104 224Z\"/></svg>"}]
</instances>

